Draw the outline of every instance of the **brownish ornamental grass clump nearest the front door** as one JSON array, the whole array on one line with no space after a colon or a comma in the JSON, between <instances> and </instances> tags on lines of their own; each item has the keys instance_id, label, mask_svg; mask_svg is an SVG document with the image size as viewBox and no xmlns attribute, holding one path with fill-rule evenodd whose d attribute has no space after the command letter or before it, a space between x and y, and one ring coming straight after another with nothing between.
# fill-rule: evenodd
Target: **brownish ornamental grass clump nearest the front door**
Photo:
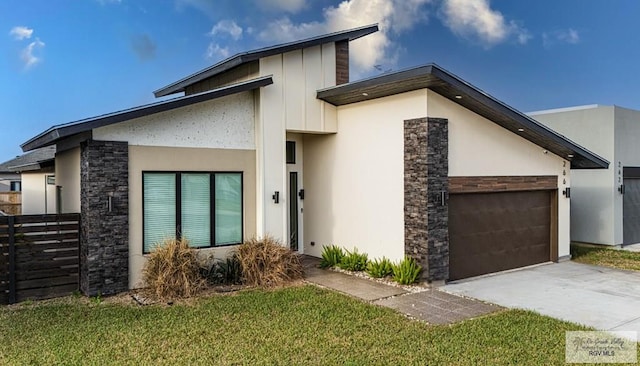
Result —
<instances>
[{"instance_id":1,"label":"brownish ornamental grass clump nearest the front door","mask_svg":"<svg viewBox=\"0 0 640 366\"><path fill-rule=\"evenodd\" d=\"M298 254L269 236L253 238L238 247L242 278L251 286L278 286L302 278Z\"/></svg>"}]
</instances>

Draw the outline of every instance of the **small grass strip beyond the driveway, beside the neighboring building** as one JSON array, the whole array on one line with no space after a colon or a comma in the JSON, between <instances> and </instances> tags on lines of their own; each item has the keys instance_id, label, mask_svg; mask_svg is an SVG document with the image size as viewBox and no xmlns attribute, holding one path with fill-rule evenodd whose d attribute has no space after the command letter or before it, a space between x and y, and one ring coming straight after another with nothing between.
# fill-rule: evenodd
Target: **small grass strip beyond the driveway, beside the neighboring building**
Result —
<instances>
[{"instance_id":1,"label":"small grass strip beyond the driveway, beside the neighboring building","mask_svg":"<svg viewBox=\"0 0 640 366\"><path fill-rule=\"evenodd\" d=\"M640 271L640 253L626 250L571 245L571 259L586 264Z\"/></svg>"}]
</instances>

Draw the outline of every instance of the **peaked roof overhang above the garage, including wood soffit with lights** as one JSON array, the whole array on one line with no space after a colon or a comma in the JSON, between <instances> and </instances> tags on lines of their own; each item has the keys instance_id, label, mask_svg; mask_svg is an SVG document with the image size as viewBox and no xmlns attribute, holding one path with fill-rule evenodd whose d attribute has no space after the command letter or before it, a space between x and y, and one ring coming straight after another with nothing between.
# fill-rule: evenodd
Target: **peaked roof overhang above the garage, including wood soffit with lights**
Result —
<instances>
[{"instance_id":1,"label":"peaked roof overhang above the garage, including wood soffit with lights","mask_svg":"<svg viewBox=\"0 0 640 366\"><path fill-rule=\"evenodd\" d=\"M317 98L335 106L341 106L424 88L431 89L570 161L573 169L599 169L609 166L606 159L435 64L318 90Z\"/></svg>"}]
</instances>

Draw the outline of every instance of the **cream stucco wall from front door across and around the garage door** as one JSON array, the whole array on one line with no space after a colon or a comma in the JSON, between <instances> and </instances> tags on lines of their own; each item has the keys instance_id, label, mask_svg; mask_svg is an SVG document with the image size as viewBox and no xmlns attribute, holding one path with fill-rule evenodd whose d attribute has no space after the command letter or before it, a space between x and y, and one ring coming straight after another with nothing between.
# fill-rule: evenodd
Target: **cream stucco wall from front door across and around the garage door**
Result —
<instances>
[{"instance_id":1,"label":"cream stucco wall from front door across and around the garage door","mask_svg":"<svg viewBox=\"0 0 640 366\"><path fill-rule=\"evenodd\" d=\"M336 244L404 256L404 120L426 116L449 120L450 176L553 175L560 191L570 185L564 159L429 90L342 106L336 135L304 137L306 254ZM563 257L570 200L558 196Z\"/></svg>"}]
</instances>

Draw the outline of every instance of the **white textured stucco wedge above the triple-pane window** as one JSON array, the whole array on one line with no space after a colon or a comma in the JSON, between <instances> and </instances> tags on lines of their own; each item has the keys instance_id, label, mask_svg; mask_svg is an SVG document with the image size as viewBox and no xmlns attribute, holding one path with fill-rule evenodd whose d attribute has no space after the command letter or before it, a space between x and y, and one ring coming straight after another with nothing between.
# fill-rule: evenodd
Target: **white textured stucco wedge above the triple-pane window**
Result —
<instances>
[{"instance_id":1,"label":"white textured stucco wedge above the triple-pane window","mask_svg":"<svg viewBox=\"0 0 640 366\"><path fill-rule=\"evenodd\" d=\"M244 92L96 128L94 140L129 145L255 149L254 95Z\"/></svg>"}]
</instances>

